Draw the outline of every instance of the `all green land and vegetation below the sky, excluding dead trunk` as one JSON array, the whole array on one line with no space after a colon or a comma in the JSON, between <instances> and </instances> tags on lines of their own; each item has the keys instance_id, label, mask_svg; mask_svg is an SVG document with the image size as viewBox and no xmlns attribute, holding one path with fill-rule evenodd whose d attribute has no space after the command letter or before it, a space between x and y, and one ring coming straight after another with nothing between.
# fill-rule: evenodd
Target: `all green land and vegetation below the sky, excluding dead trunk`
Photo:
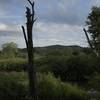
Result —
<instances>
[{"instance_id":1,"label":"all green land and vegetation below the sky, excluding dead trunk","mask_svg":"<svg viewBox=\"0 0 100 100\"><path fill-rule=\"evenodd\" d=\"M0 100L31 100L26 50L10 53L0 53ZM35 48L39 100L90 100L91 89L100 91L99 59L89 48Z\"/></svg>"}]
</instances>

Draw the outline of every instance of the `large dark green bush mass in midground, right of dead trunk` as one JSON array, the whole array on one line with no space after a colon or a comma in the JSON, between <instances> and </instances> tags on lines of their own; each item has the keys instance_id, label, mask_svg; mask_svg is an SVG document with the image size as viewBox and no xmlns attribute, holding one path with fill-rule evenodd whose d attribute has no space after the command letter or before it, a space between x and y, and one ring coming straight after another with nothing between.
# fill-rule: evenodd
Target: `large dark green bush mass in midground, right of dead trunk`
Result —
<instances>
[{"instance_id":1,"label":"large dark green bush mass in midground, right of dead trunk","mask_svg":"<svg viewBox=\"0 0 100 100\"><path fill-rule=\"evenodd\" d=\"M100 72L98 58L88 55L48 56L35 62L40 72L52 72L63 81L84 83L94 72Z\"/></svg>"}]
</instances>

